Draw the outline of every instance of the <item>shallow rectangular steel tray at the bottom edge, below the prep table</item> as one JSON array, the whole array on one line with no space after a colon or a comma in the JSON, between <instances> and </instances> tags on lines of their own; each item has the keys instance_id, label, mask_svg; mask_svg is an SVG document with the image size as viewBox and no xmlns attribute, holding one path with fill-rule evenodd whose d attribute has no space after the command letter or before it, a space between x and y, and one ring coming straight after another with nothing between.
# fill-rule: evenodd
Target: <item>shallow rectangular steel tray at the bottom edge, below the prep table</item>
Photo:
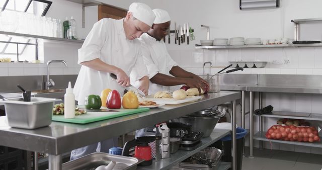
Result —
<instances>
[{"instance_id":1,"label":"shallow rectangular steel tray at the bottom edge, below the prep table","mask_svg":"<svg viewBox=\"0 0 322 170\"><path fill-rule=\"evenodd\" d=\"M112 160L116 162L113 170L135 170L138 163L143 160L138 160L135 157L112 155L108 153L91 153L78 159L62 164L63 170L95 170L100 165L107 165Z\"/></svg>"}]
</instances>

